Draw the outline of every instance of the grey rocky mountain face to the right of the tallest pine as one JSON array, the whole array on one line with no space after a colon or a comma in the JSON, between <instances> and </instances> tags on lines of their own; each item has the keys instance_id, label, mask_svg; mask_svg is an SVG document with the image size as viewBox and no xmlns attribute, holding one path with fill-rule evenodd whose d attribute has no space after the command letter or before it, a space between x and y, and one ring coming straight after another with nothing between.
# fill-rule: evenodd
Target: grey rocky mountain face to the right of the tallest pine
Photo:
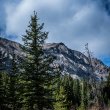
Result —
<instances>
[{"instance_id":1,"label":"grey rocky mountain face to the right of the tallest pine","mask_svg":"<svg viewBox=\"0 0 110 110\"><path fill-rule=\"evenodd\" d=\"M107 76L108 67L100 60L92 58L92 66L87 56L79 51L71 50L63 43L45 44L44 50L57 57L55 61L62 67L62 73L71 74L74 78L94 77L100 79Z\"/></svg>"}]
</instances>

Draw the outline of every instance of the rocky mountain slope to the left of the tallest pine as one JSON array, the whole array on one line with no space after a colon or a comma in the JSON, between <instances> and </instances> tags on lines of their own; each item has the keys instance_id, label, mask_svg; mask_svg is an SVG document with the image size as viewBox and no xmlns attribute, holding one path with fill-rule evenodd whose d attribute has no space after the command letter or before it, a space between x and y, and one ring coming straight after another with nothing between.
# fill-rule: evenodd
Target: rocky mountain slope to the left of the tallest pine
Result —
<instances>
[{"instance_id":1,"label":"rocky mountain slope to the left of the tallest pine","mask_svg":"<svg viewBox=\"0 0 110 110\"><path fill-rule=\"evenodd\" d=\"M15 53L19 61L25 55L19 43L0 38L0 70L9 70L11 68L13 53Z\"/></svg>"}]
</instances>

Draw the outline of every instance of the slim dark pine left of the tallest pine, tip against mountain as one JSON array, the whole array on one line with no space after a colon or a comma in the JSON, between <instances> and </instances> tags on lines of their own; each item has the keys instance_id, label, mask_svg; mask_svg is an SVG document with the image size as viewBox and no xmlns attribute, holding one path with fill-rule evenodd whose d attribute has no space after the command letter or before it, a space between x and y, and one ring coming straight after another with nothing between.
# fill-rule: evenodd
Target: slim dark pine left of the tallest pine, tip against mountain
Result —
<instances>
[{"instance_id":1,"label":"slim dark pine left of the tallest pine, tip against mountain","mask_svg":"<svg viewBox=\"0 0 110 110\"><path fill-rule=\"evenodd\" d=\"M11 110L18 110L18 64L16 56L13 52L12 63L6 82L6 103Z\"/></svg>"}]
</instances>

